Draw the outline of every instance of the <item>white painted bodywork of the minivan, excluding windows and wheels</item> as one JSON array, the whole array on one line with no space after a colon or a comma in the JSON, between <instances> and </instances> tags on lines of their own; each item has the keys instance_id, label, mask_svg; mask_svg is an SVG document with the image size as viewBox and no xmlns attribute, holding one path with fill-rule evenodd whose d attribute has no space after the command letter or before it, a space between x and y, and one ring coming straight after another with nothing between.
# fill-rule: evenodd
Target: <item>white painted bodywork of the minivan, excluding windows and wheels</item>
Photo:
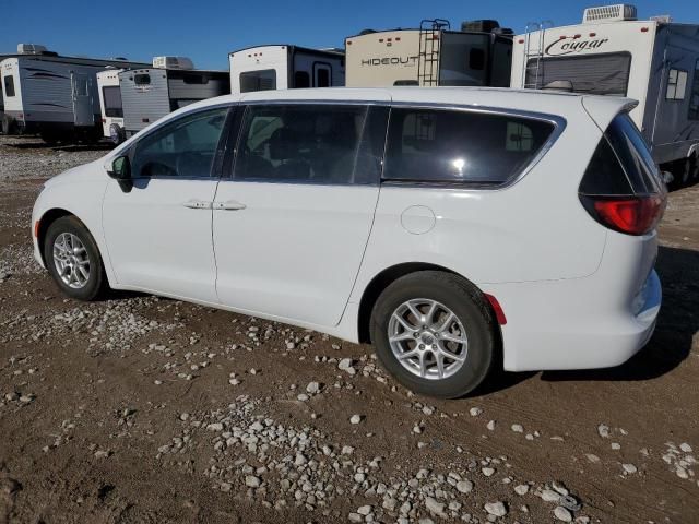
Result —
<instances>
[{"instance_id":1,"label":"white painted bodywork of the minivan, excluding windows and wheels","mask_svg":"<svg viewBox=\"0 0 699 524\"><path fill-rule=\"evenodd\" d=\"M33 221L56 207L74 213L97 240L115 288L250 312L353 342L369 284L411 262L463 275L497 297L507 315L508 370L613 366L645 343L661 300L652 271L655 235L611 231L578 200L601 129L628 99L491 88L292 90L198 103L162 121L213 105L308 99L535 110L560 117L565 129L521 179L495 190L170 179L125 193L105 166L137 136L102 162L51 180ZM192 198L210 199L214 210L181 205ZM230 201L245 207L216 209ZM416 205L435 217L419 234L405 226Z\"/></svg>"}]
</instances>

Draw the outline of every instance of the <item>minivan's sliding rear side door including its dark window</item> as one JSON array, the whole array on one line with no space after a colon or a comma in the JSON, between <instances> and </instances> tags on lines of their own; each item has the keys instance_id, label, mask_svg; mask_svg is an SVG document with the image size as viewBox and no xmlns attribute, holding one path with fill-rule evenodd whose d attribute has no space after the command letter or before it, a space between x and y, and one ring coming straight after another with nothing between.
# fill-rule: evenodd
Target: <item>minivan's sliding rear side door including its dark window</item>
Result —
<instances>
[{"instance_id":1,"label":"minivan's sliding rear side door including its dark window","mask_svg":"<svg viewBox=\"0 0 699 524\"><path fill-rule=\"evenodd\" d=\"M233 177L222 178L214 202L223 305L310 325L340 321L374 221L387 114L364 105L246 109Z\"/></svg>"}]
</instances>

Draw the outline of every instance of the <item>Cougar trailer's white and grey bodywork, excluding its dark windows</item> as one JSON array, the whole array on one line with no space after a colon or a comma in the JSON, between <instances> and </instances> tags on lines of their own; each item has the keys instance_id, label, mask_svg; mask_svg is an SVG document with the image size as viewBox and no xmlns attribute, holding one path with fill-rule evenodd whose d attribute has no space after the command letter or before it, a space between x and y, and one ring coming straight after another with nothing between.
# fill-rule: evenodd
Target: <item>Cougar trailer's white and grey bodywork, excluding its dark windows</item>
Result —
<instances>
[{"instance_id":1,"label":"Cougar trailer's white and grey bodywork, excluding its dark windows","mask_svg":"<svg viewBox=\"0 0 699 524\"><path fill-rule=\"evenodd\" d=\"M553 27L543 35L530 33L529 53L526 38L526 35L514 37L511 87L525 87L525 66L540 53L544 61L556 57L628 53L630 69L625 96L638 100L630 116L649 142L654 159L665 164L684 158L699 144L699 120L688 118L691 90L698 82L695 70L699 70L699 26L615 21ZM670 69L687 72L682 100L666 99Z\"/></svg>"}]
</instances>

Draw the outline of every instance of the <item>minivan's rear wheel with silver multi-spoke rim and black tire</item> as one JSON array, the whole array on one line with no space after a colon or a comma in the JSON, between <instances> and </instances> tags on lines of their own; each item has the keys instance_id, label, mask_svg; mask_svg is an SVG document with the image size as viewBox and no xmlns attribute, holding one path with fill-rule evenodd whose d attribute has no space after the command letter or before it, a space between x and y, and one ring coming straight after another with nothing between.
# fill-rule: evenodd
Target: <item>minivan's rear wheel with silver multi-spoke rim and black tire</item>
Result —
<instances>
[{"instance_id":1,"label":"minivan's rear wheel with silver multi-spoke rim and black tire","mask_svg":"<svg viewBox=\"0 0 699 524\"><path fill-rule=\"evenodd\" d=\"M411 340L405 324L392 320L396 313L408 324L423 330L415 323L416 315L411 313L408 301L413 301L411 305L424 317L431 308L430 302L437 303L433 327L445 323L447 311L452 312L458 322L452 321L451 330L443 330L441 334L439 329L413 332L413 338L416 333L419 336ZM459 336L461 329L465 332L465 345L443 338L463 338ZM404 340L394 342L392 346L389 331ZM433 336L435 332L438 335ZM499 337L496 333L496 321L483 294L464 278L439 271L411 273L390 284L379 296L370 320L371 341L383 367L410 390L443 398L464 396L486 379L498 361ZM424 343L423 349L419 349L420 342ZM435 347L447 347L450 354L465 356L465 359L458 365L457 359L442 357L440 374L437 366L439 352L431 350ZM399 360L396 355L406 354L414 356ZM429 362L431 368L427 372L420 371L420 361Z\"/></svg>"}]
</instances>

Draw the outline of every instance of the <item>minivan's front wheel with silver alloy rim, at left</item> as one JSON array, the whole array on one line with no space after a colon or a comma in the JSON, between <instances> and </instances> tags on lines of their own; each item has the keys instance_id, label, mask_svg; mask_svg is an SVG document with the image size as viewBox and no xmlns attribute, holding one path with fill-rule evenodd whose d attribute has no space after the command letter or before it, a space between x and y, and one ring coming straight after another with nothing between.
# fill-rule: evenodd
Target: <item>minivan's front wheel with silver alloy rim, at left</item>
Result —
<instances>
[{"instance_id":1,"label":"minivan's front wheel with silver alloy rim, at left","mask_svg":"<svg viewBox=\"0 0 699 524\"><path fill-rule=\"evenodd\" d=\"M74 239L78 239L78 242ZM74 248L63 251L63 253L70 253L67 259L71 254L73 257L68 261L70 265L64 270L64 276L71 281L69 283L59 274L59 266L62 263L59 259L61 248L55 249L57 240L60 246ZM85 226L74 216L61 216L48 227L44 241L44 260L54 282L70 298L91 301L107 289L107 277L97 245ZM85 261L87 261L86 264ZM82 266L83 271L80 271L78 265Z\"/></svg>"}]
</instances>

